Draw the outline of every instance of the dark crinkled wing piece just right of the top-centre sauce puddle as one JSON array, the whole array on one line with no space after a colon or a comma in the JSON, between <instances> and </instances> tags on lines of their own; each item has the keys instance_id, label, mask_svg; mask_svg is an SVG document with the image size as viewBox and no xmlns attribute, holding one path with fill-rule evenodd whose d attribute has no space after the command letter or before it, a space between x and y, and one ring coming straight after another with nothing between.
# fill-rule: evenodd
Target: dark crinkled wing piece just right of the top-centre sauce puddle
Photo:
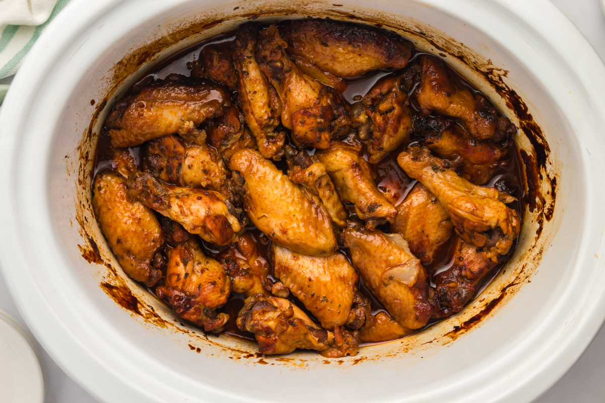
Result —
<instances>
[{"instance_id":1,"label":"dark crinkled wing piece just right of the top-centre sauce puddle","mask_svg":"<svg viewBox=\"0 0 605 403\"><path fill-rule=\"evenodd\" d=\"M370 163L410 140L410 98L401 89L399 77L388 77L370 89L351 108L353 127L359 140L367 143Z\"/></svg>"}]
</instances>

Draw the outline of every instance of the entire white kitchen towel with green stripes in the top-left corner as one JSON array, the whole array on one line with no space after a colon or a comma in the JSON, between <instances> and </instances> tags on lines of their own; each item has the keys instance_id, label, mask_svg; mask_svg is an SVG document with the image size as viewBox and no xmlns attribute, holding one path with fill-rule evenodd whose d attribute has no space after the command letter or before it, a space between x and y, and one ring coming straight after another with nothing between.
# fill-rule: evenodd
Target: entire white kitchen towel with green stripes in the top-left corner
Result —
<instances>
[{"instance_id":1,"label":"entire white kitchen towel with green stripes in the top-left corner","mask_svg":"<svg viewBox=\"0 0 605 403\"><path fill-rule=\"evenodd\" d=\"M0 79L17 72L44 27L70 0L0 0Z\"/></svg>"}]
</instances>

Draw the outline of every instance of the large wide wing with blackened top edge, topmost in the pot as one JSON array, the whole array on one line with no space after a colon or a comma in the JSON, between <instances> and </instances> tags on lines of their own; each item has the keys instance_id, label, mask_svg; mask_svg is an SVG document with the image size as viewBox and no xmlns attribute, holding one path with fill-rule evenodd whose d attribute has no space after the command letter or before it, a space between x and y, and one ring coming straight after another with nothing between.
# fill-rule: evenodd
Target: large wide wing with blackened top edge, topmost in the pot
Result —
<instances>
[{"instance_id":1,"label":"large wide wing with blackened top edge, topmost in the pot","mask_svg":"<svg viewBox=\"0 0 605 403\"><path fill-rule=\"evenodd\" d=\"M413 45L362 25L332 20L298 20L281 28L288 52L311 60L341 77L359 77L378 69L401 69Z\"/></svg>"}]
</instances>

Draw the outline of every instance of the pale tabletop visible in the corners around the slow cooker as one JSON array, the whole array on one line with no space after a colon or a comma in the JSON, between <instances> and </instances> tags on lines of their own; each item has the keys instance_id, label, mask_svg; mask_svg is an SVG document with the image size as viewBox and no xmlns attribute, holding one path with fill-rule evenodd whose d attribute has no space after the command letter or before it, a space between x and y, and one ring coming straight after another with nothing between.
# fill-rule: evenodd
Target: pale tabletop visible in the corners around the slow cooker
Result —
<instances>
[{"instance_id":1,"label":"pale tabletop visible in the corners around the slow cooker","mask_svg":"<svg viewBox=\"0 0 605 403\"><path fill-rule=\"evenodd\" d=\"M605 16L601 11L600 0L551 1L580 28L601 59L605 60ZM8 77L0 80L0 84L10 81L11 77ZM0 276L0 309L13 315L27 327L15 302L8 294L2 276ZM38 349L42 355L46 375L46 403L97 402L57 366L40 344ZM534 403L569 402L605 402L605 326L601 327L595 340L574 367L557 384L534 401Z\"/></svg>"}]
</instances>

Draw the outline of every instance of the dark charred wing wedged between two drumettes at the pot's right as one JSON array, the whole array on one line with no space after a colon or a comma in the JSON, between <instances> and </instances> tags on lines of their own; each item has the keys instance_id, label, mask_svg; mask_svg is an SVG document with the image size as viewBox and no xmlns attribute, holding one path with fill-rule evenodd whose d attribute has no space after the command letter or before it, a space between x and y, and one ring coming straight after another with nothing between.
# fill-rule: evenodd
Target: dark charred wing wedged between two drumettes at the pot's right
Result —
<instances>
[{"instance_id":1,"label":"dark charred wing wedged between two drumettes at the pot's right","mask_svg":"<svg viewBox=\"0 0 605 403\"><path fill-rule=\"evenodd\" d=\"M491 141L476 140L458 124L441 132L430 132L423 141L433 153L447 160L462 159L460 176L482 185L491 179L494 170L506 164L508 150Z\"/></svg>"}]
</instances>

